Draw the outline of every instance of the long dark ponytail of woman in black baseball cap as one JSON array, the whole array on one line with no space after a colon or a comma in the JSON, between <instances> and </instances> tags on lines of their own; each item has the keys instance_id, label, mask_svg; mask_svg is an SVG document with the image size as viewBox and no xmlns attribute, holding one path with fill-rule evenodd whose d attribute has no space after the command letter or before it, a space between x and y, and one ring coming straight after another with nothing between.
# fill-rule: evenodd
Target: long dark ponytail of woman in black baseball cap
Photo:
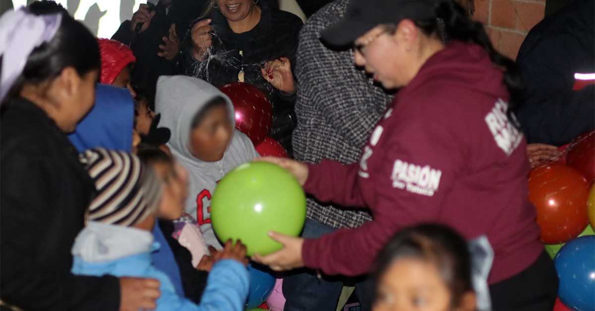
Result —
<instances>
[{"instance_id":1,"label":"long dark ponytail of woman in black baseball cap","mask_svg":"<svg viewBox=\"0 0 595 311\"><path fill-rule=\"evenodd\" d=\"M480 45L490 55L491 62L502 68L504 71L502 81L506 84L510 95L506 114L509 121L518 127L513 111L516 111L524 101L524 83L518 65L494 49L483 25L471 20L465 9L458 3L441 1L436 7L436 17L434 20L419 21L416 24L425 34L436 33L444 42L454 39Z\"/></svg>"}]
</instances>

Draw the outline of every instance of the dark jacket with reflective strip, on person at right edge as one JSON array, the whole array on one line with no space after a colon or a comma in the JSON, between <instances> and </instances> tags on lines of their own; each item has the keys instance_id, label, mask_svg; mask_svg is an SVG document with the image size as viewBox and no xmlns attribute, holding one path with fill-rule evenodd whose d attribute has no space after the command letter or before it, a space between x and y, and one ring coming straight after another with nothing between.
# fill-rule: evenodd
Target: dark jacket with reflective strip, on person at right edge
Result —
<instances>
[{"instance_id":1,"label":"dark jacket with reflective strip, on person at right edge","mask_svg":"<svg viewBox=\"0 0 595 311\"><path fill-rule=\"evenodd\" d=\"M529 143L555 146L595 127L595 86L573 91L575 73L595 73L595 2L578 0L538 23L516 58L527 81L517 112Z\"/></svg>"}]
</instances>

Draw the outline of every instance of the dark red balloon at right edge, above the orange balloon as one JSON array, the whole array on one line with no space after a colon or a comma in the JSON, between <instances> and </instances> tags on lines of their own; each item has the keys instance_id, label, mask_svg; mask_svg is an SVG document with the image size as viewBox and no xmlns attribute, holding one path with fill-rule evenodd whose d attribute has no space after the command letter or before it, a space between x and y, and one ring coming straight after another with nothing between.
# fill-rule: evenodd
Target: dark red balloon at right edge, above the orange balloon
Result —
<instances>
[{"instance_id":1,"label":"dark red balloon at right edge, above the orange balloon","mask_svg":"<svg viewBox=\"0 0 595 311\"><path fill-rule=\"evenodd\" d=\"M566 163L587 178L589 184L595 180L595 130L577 136L568 147Z\"/></svg>"}]
</instances>

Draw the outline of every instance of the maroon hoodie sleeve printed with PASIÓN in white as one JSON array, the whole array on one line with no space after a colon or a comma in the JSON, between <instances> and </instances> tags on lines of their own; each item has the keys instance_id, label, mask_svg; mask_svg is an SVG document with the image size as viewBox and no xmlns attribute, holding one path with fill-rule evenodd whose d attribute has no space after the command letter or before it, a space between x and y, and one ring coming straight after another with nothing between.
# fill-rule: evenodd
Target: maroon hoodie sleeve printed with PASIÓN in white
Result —
<instances>
[{"instance_id":1,"label":"maroon hoodie sleeve printed with PASI\u00d3N in white","mask_svg":"<svg viewBox=\"0 0 595 311\"><path fill-rule=\"evenodd\" d=\"M302 258L308 268L321 269L329 275L364 274L386 241L401 228L436 221L456 172L465 160L456 135L436 122L427 121L418 120L400 127L399 131L385 133L390 137L375 146L379 155L368 162L368 167L375 171L370 172L366 181L372 183L369 188L374 191L369 196L373 197L372 201L368 202L374 220L356 229L339 230L306 240ZM327 166L317 168L315 175L326 173L330 178L333 173L327 173ZM433 174L433 177L425 177L433 180L415 178L416 170ZM354 174L357 173L350 175ZM335 177L345 178L346 175ZM336 189L325 189L332 190Z\"/></svg>"}]
</instances>

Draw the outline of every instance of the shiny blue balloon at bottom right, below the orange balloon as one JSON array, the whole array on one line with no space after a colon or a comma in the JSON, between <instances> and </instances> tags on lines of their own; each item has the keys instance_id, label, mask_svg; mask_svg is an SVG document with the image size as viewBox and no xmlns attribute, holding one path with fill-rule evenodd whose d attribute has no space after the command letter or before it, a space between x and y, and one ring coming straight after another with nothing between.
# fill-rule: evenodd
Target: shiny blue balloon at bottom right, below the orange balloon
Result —
<instances>
[{"instance_id":1,"label":"shiny blue balloon at bottom right, below the orange balloon","mask_svg":"<svg viewBox=\"0 0 595 311\"><path fill-rule=\"evenodd\" d=\"M558 296L576 311L595 306L595 235L578 237L562 246L554 259L560 278Z\"/></svg>"}]
</instances>

